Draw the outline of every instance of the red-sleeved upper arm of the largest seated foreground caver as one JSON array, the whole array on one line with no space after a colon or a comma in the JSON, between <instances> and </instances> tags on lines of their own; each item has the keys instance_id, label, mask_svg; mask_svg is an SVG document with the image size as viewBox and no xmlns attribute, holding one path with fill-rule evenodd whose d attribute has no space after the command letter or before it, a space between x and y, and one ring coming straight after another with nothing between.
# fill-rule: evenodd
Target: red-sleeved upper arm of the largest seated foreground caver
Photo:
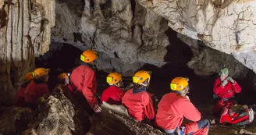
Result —
<instances>
[{"instance_id":1,"label":"red-sleeved upper arm of the largest seated foreground caver","mask_svg":"<svg viewBox=\"0 0 256 135\"><path fill-rule=\"evenodd\" d=\"M181 108L183 111L184 117L190 121L197 122L201 119L201 113L187 98L182 98L179 106L179 108Z\"/></svg>"}]
</instances>

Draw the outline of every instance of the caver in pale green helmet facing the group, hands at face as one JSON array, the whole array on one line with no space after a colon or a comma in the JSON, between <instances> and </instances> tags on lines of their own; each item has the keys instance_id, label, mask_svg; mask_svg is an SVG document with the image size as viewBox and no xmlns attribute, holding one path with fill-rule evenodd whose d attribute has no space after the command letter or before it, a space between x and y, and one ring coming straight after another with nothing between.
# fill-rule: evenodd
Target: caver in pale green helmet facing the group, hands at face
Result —
<instances>
[{"instance_id":1,"label":"caver in pale green helmet facing the group, hands at face","mask_svg":"<svg viewBox=\"0 0 256 135\"><path fill-rule=\"evenodd\" d=\"M233 105L232 98L235 93L240 93L241 87L235 80L229 77L229 69L220 70L219 78L215 80L213 92L218 96L219 101L212 109L212 114L218 114L222 108L230 108Z\"/></svg>"}]
</instances>

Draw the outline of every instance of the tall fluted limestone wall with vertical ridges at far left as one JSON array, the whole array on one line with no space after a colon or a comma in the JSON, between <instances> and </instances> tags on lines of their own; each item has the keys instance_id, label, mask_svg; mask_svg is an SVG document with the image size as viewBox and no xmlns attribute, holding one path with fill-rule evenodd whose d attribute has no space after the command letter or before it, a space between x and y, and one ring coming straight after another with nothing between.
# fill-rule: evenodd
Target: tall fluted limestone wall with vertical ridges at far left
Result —
<instances>
[{"instance_id":1,"label":"tall fluted limestone wall with vertical ridges at far left","mask_svg":"<svg viewBox=\"0 0 256 135\"><path fill-rule=\"evenodd\" d=\"M53 0L0 0L0 99L12 99L34 56L48 51L55 25Z\"/></svg>"}]
</instances>

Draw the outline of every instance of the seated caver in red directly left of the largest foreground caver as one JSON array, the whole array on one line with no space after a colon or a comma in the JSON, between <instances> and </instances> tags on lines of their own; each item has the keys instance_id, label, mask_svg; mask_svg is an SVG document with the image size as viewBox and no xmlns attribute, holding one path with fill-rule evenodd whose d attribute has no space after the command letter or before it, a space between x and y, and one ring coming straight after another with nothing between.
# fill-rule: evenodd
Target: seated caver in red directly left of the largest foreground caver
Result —
<instances>
[{"instance_id":1,"label":"seated caver in red directly left of the largest foreground caver","mask_svg":"<svg viewBox=\"0 0 256 135\"><path fill-rule=\"evenodd\" d=\"M122 103L128 109L128 113L137 121L150 120L155 118L155 109L151 94L147 92L151 73L140 70L133 76L134 87L126 91Z\"/></svg>"}]
</instances>

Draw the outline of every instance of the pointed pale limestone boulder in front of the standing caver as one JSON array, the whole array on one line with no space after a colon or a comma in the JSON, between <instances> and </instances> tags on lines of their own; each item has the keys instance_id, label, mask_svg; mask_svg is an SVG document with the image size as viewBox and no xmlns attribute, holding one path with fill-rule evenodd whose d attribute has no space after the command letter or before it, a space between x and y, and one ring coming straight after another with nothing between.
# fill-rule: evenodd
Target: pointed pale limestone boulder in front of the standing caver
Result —
<instances>
[{"instance_id":1,"label":"pointed pale limestone boulder in front of the standing caver","mask_svg":"<svg viewBox=\"0 0 256 135\"><path fill-rule=\"evenodd\" d=\"M38 112L35 122L23 135L83 135L90 128L89 116L66 89L42 98Z\"/></svg>"}]
</instances>

